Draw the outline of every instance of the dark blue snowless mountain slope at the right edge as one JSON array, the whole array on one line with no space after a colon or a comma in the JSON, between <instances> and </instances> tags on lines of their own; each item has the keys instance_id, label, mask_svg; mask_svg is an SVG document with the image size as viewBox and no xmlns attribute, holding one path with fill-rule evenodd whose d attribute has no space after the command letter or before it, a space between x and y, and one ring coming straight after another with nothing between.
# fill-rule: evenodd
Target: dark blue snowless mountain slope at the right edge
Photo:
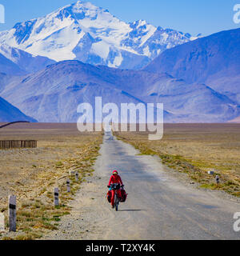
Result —
<instances>
[{"instance_id":1,"label":"dark blue snowless mountain slope at the right edge","mask_svg":"<svg viewBox=\"0 0 240 256\"><path fill-rule=\"evenodd\" d=\"M239 44L240 29L222 31L166 50L144 70L205 83L240 104Z\"/></svg>"}]
</instances>

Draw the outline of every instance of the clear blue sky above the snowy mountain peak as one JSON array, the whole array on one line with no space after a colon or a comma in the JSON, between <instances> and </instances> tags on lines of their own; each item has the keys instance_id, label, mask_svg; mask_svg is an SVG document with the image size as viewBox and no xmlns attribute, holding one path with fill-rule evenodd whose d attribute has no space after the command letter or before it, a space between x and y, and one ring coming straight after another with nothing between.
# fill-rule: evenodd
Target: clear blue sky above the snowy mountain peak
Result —
<instances>
[{"instance_id":1,"label":"clear blue sky above the snowy mountain peak","mask_svg":"<svg viewBox=\"0 0 240 256\"><path fill-rule=\"evenodd\" d=\"M77 0L76 0L77 1ZM6 9L7 30L16 22L38 18L74 0L0 0ZM90 0L125 22L145 19L155 26L196 35L213 34L240 27L234 24L234 5L240 0Z\"/></svg>"}]
</instances>

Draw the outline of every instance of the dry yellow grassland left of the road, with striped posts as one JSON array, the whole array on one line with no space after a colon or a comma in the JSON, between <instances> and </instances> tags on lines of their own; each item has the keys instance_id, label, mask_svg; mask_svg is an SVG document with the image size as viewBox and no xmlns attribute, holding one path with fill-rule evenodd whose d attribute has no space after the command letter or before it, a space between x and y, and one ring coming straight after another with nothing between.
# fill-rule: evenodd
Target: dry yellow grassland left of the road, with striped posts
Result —
<instances>
[{"instance_id":1,"label":"dry yellow grassland left of the road, with striped posts","mask_svg":"<svg viewBox=\"0 0 240 256\"><path fill-rule=\"evenodd\" d=\"M9 194L17 195L18 201L18 232L2 234L4 240L32 240L58 229L61 216L70 214L67 202L92 174L102 143L101 133L81 134L74 124L18 124L0 130L0 139L19 138L37 139L38 148L0 150L0 211L7 215ZM78 171L78 182L69 177L70 170ZM70 193L66 192L67 178ZM54 187L60 190L58 207L53 206Z\"/></svg>"}]
</instances>

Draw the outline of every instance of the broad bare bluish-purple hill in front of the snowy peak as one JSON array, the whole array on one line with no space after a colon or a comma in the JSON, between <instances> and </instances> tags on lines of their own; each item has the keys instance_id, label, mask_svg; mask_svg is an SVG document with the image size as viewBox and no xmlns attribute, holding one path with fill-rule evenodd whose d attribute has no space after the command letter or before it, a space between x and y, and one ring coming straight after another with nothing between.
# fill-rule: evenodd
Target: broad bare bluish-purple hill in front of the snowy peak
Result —
<instances>
[{"instance_id":1,"label":"broad bare bluish-purple hill in front of the snowy peak","mask_svg":"<svg viewBox=\"0 0 240 256\"><path fill-rule=\"evenodd\" d=\"M1 96L39 122L77 122L83 102L164 103L165 122L226 122L240 108L204 84L189 84L169 74L119 70L78 61L58 62L19 78Z\"/></svg>"}]
</instances>

